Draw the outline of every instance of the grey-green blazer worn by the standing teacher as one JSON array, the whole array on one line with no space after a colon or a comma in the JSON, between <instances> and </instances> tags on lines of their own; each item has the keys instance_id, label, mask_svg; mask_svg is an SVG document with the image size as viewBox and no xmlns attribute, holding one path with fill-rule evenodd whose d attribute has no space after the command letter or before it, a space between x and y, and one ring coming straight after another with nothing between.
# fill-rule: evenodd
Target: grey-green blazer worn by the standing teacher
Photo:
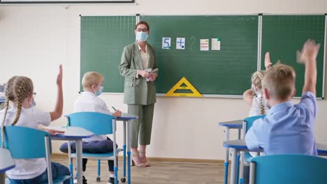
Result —
<instances>
[{"instance_id":1,"label":"grey-green blazer worn by the standing teacher","mask_svg":"<svg viewBox=\"0 0 327 184\"><path fill-rule=\"evenodd\" d=\"M147 43L147 52L149 52L149 68L157 68L156 50ZM122 61L119 65L120 75L125 77L124 84L124 103L134 105L150 105L156 102L156 86L154 82L146 82L145 78L139 76L136 78L137 70L143 68L138 42L124 47Z\"/></svg>"}]
</instances>

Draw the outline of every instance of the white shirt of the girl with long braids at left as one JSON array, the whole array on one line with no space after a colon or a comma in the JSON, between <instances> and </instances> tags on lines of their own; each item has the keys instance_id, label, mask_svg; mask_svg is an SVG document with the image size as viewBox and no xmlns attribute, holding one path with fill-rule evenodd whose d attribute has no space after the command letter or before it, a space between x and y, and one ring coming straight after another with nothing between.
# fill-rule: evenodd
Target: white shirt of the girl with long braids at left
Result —
<instances>
[{"instance_id":1,"label":"white shirt of the girl with long braids at left","mask_svg":"<svg viewBox=\"0 0 327 184\"><path fill-rule=\"evenodd\" d=\"M2 121L5 109L0 112L0 119ZM6 115L5 125L11 125L15 119L17 107L8 109ZM29 128L38 128L39 124L48 126L51 123L51 117L49 112L42 112L35 107L25 109L22 107L20 118L17 121L17 126L24 126ZM15 168L6 171L9 178L12 179L31 179L43 174L47 168L45 158L36 159L14 159Z\"/></svg>"}]
</instances>

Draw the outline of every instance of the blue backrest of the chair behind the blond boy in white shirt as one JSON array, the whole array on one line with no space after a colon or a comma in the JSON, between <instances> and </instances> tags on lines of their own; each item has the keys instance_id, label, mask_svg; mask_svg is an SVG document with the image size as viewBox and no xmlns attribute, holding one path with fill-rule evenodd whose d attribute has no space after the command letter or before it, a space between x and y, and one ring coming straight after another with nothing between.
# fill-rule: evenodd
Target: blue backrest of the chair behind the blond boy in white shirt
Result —
<instances>
[{"instance_id":1,"label":"blue backrest of the chair behind the blond boy in white shirt","mask_svg":"<svg viewBox=\"0 0 327 184\"><path fill-rule=\"evenodd\" d=\"M99 112L75 112L67 115L68 125L84 128L95 135L109 135L113 132L112 120L115 116Z\"/></svg>"}]
</instances>

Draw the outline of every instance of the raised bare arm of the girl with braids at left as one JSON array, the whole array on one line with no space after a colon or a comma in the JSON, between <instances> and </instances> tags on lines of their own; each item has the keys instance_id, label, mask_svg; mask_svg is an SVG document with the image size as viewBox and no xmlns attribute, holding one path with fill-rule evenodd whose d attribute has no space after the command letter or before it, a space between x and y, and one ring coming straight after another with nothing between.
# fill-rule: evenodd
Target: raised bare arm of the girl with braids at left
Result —
<instances>
[{"instance_id":1,"label":"raised bare arm of the girl with braids at left","mask_svg":"<svg viewBox=\"0 0 327 184\"><path fill-rule=\"evenodd\" d=\"M59 66L59 74L57 76L57 87L58 87L57 103L56 103L56 107L54 107L54 111L50 112L51 121L60 118L64 105L64 98L62 94L62 66L61 65Z\"/></svg>"}]
</instances>

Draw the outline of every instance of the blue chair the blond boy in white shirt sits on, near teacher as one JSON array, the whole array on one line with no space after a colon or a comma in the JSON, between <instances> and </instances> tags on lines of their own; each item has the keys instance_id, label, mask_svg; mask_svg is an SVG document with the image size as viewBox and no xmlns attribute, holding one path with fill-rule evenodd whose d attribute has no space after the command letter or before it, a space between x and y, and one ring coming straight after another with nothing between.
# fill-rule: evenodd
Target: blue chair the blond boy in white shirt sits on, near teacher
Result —
<instances>
[{"instance_id":1,"label":"blue chair the blond boy in white shirt sits on, near teacher","mask_svg":"<svg viewBox=\"0 0 327 184\"><path fill-rule=\"evenodd\" d=\"M117 155L120 148L116 148L116 119L115 116L108 114L102 114L99 112L76 112L66 116L68 118L68 125L84 128L93 132L94 135L112 135L113 139L113 152L108 153L82 153L82 158L96 159L98 160L98 174L96 181L100 181L100 160L114 160L115 167L115 183L117 183ZM75 158L75 153L71 153L70 144L68 142L68 156L69 156L69 167L73 174L72 158Z\"/></svg>"}]
</instances>

